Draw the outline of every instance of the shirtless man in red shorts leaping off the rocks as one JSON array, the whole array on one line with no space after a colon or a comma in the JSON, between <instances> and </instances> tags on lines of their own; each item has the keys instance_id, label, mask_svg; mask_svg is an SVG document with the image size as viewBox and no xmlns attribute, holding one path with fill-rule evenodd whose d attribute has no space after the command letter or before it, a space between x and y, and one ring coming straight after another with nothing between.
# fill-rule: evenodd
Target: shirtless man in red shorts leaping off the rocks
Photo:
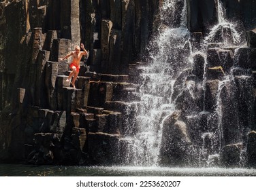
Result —
<instances>
[{"instance_id":1,"label":"shirtless man in red shorts leaping off the rocks","mask_svg":"<svg viewBox=\"0 0 256 190\"><path fill-rule=\"evenodd\" d=\"M80 47L78 45L76 45L74 52L70 52L70 54L67 54L67 56L60 59L60 60L65 60L66 58L69 58L70 56L73 57L71 64L69 64L71 73L69 74L69 77L67 77L66 81L68 82L69 79L74 75L72 82L71 82L71 85L74 88L76 88L75 82L76 82L76 78L78 77L78 73L79 73L79 69L80 69L80 60L81 60L82 56L86 56L88 54L88 52L84 49L84 44L81 43L80 46L81 46L83 52L80 52Z\"/></svg>"}]
</instances>

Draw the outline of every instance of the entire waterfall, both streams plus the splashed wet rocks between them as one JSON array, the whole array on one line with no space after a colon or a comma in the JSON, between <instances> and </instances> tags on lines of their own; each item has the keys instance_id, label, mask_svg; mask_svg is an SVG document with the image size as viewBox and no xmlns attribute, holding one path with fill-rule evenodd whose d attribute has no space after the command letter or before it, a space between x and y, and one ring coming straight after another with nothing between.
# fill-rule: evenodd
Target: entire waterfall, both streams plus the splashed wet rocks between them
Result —
<instances>
[{"instance_id":1,"label":"entire waterfall, both streams plus the splashed wet rocks between them","mask_svg":"<svg viewBox=\"0 0 256 190\"><path fill-rule=\"evenodd\" d=\"M127 140L125 164L133 166L173 164L175 161L170 155L172 151L178 150L181 159L182 156L188 157L185 162L189 165L219 166L223 147L242 140L236 113L238 104L232 102L236 98L234 95L236 82L232 75L233 66L229 64L229 59L234 61L233 54L236 53L234 45L241 43L238 26L225 18L223 4L215 1L218 23L212 26L204 40L200 42L201 48L193 48L191 33L187 29L186 2L185 0L163 1L159 35L150 42L149 47L151 62L138 68L142 71L140 102L136 102L136 109L134 107L127 109L127 115L133 112L135 122L127 121L127 125L130 123L133 130L128 130L125 136ZM217 68L225 67L225 73L221 67L223 77L209 78L208 71L211 66L208 62L210 56L208 50L213 50L217 54L215 58L220 60ZM200 76L195 73L197 72L195 56L201 61ZM207 85L213 90L210 100L206 98ZM209 106L206 108L207 101L212 103L212 108ZM231 116L229 112L232 113ZM165 133L176 130L174 123L168 123L166 129L165 121L170 120L176 113L178 117L180 113L182 115L177 120L180 121L177 125L183 139L173 142L172 140L176 138L175 134ZM229 130L229 119L232 120L230 122L232 130ZM171 132L170 128L174 131ZM233 134L234 132L236 135ZM227 134L234 136L231 139ZM166 138L171 138L170 143L176 145L165 146ZM177 154L174 153L174 158Z\"/></svg>"}]
</instances>

